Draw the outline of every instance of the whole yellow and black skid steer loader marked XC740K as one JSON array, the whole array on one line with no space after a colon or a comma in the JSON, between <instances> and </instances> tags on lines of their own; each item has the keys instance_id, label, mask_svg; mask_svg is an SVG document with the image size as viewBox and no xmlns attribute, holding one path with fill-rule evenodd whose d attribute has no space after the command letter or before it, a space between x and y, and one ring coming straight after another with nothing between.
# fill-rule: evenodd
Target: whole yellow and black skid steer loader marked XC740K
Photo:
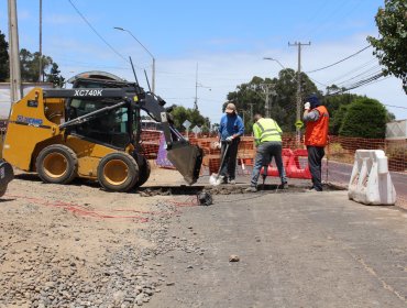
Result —
<instances>
[{"instance_id":1,"label":"whole yellow and black skid steer loader marked XC740K","mask_svg":"<svg viewBox=\"0 0 407 308\"><path fill-rule=\"evenodd\" d=\"M34 88L12 106L3 158L45 183L95 179L109 191L129 191L150 176L141 154L140 111L160 122L167 158L191 185L202 150L173 127L165 101L107 73L80 74L72 89Z\"/></svg>"}]
</instances>

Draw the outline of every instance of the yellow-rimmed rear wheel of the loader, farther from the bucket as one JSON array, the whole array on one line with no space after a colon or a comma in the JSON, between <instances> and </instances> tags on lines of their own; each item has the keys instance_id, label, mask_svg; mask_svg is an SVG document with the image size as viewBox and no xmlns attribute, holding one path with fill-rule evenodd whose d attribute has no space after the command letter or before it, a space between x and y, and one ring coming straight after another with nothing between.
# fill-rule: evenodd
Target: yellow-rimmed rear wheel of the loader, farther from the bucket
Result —
<instances>
[{"instance_id":1,"label":"yellow-rimmed rear wheel of the loader, farther from the bucket","mask_svg":"<svg viewBox=\"0 0 407 308\"><path fill-rule=\"evenodd\" d=\"M35 166L43 182L68 184L76 177L78 157L68 146L53 144L40 152Z\"/></svg>"}]
</instances>

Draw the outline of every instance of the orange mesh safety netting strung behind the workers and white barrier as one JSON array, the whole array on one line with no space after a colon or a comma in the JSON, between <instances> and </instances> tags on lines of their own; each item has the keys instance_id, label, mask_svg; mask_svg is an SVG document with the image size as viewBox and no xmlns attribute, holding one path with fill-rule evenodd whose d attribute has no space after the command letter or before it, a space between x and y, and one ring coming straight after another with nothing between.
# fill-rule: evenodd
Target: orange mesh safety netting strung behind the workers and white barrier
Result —
<instances>
[{"instance_id":1,"label":"orange mesh safety netting strung behind the workers and white barrier","mask_svg":"<svg viewBox=\"0 0 407 308\"><path fill-rule=\"evenodd\" d=\"M190 138L190 142L204 148L206 156L202 161L202 173L217 173L220 165L220 150L213 148L217 136L198 135ZM283 148L297 153L306 148L304 141L297 142L295 134L283 135ZM322 162L322 179L346 188L352 174L354 154L356 150L383 150L388 158L388 169L397 193L397 205L407 208L407 140L383 140L330 136L329 144L324 148L326 156ZM307 157L300 153L294 157L290 167L295 173L306 173ZM239 144L237 174L249 176L255 157L253 136L243 136ZM283 157L284 158L284 157ZM288 158L287 158L288 160ZM286 161L287 163L287 161ZM293 167L294 166L294 167ZM275 168L275 166L273 165ZM275 169L273 175L277 176ZM294 173L294 174L295 174ZM289 177L289 176L288 176ZM299 177L306 178L304 175ZM293 176L289 178L296 178Z\"/></svg>"}]
</instances>

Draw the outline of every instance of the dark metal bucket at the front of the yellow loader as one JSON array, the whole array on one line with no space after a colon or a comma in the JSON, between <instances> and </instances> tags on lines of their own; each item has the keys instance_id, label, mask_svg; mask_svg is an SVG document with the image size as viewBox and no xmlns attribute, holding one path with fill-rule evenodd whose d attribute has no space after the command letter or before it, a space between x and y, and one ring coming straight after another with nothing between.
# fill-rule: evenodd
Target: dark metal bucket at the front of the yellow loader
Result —
<instances>
[{"instance_id":1,"label":"dark metal bucket at the front of the yellow loader","mask_svg":"<svg viewBox=\"0 0 407 308\"><path fill-rule=\"evenodd\" d=\"M189 185L198 180L204 152L197 145L177 144L167 151L167 158Z\"/></svg>"}]
</instances>

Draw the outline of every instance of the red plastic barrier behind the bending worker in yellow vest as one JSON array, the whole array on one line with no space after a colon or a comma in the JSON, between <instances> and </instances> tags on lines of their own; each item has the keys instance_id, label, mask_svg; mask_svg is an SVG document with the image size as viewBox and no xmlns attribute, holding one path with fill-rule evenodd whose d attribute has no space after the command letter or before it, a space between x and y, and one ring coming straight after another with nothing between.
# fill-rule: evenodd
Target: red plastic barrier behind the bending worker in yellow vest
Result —
<instances>
[{"instance_id":1,"label":"red plastic barrier behind the bending worker in yellow vest","mask_svg":"<svg viewBox=\"0 0 407 308\"><path fill-rule=\"evenodd\" d=\"M292 151L289 148L283 148L283 166L288 178L311 178L311 173L309 172L308 162L306 162L302 168L299 162L299 157L308 157L307 150L297 148ZM264 168L262 168L261 174L264 174ZM267 176L279 176L278 169L273 164L267 167Z\"/></svg>"}]
</instances>

